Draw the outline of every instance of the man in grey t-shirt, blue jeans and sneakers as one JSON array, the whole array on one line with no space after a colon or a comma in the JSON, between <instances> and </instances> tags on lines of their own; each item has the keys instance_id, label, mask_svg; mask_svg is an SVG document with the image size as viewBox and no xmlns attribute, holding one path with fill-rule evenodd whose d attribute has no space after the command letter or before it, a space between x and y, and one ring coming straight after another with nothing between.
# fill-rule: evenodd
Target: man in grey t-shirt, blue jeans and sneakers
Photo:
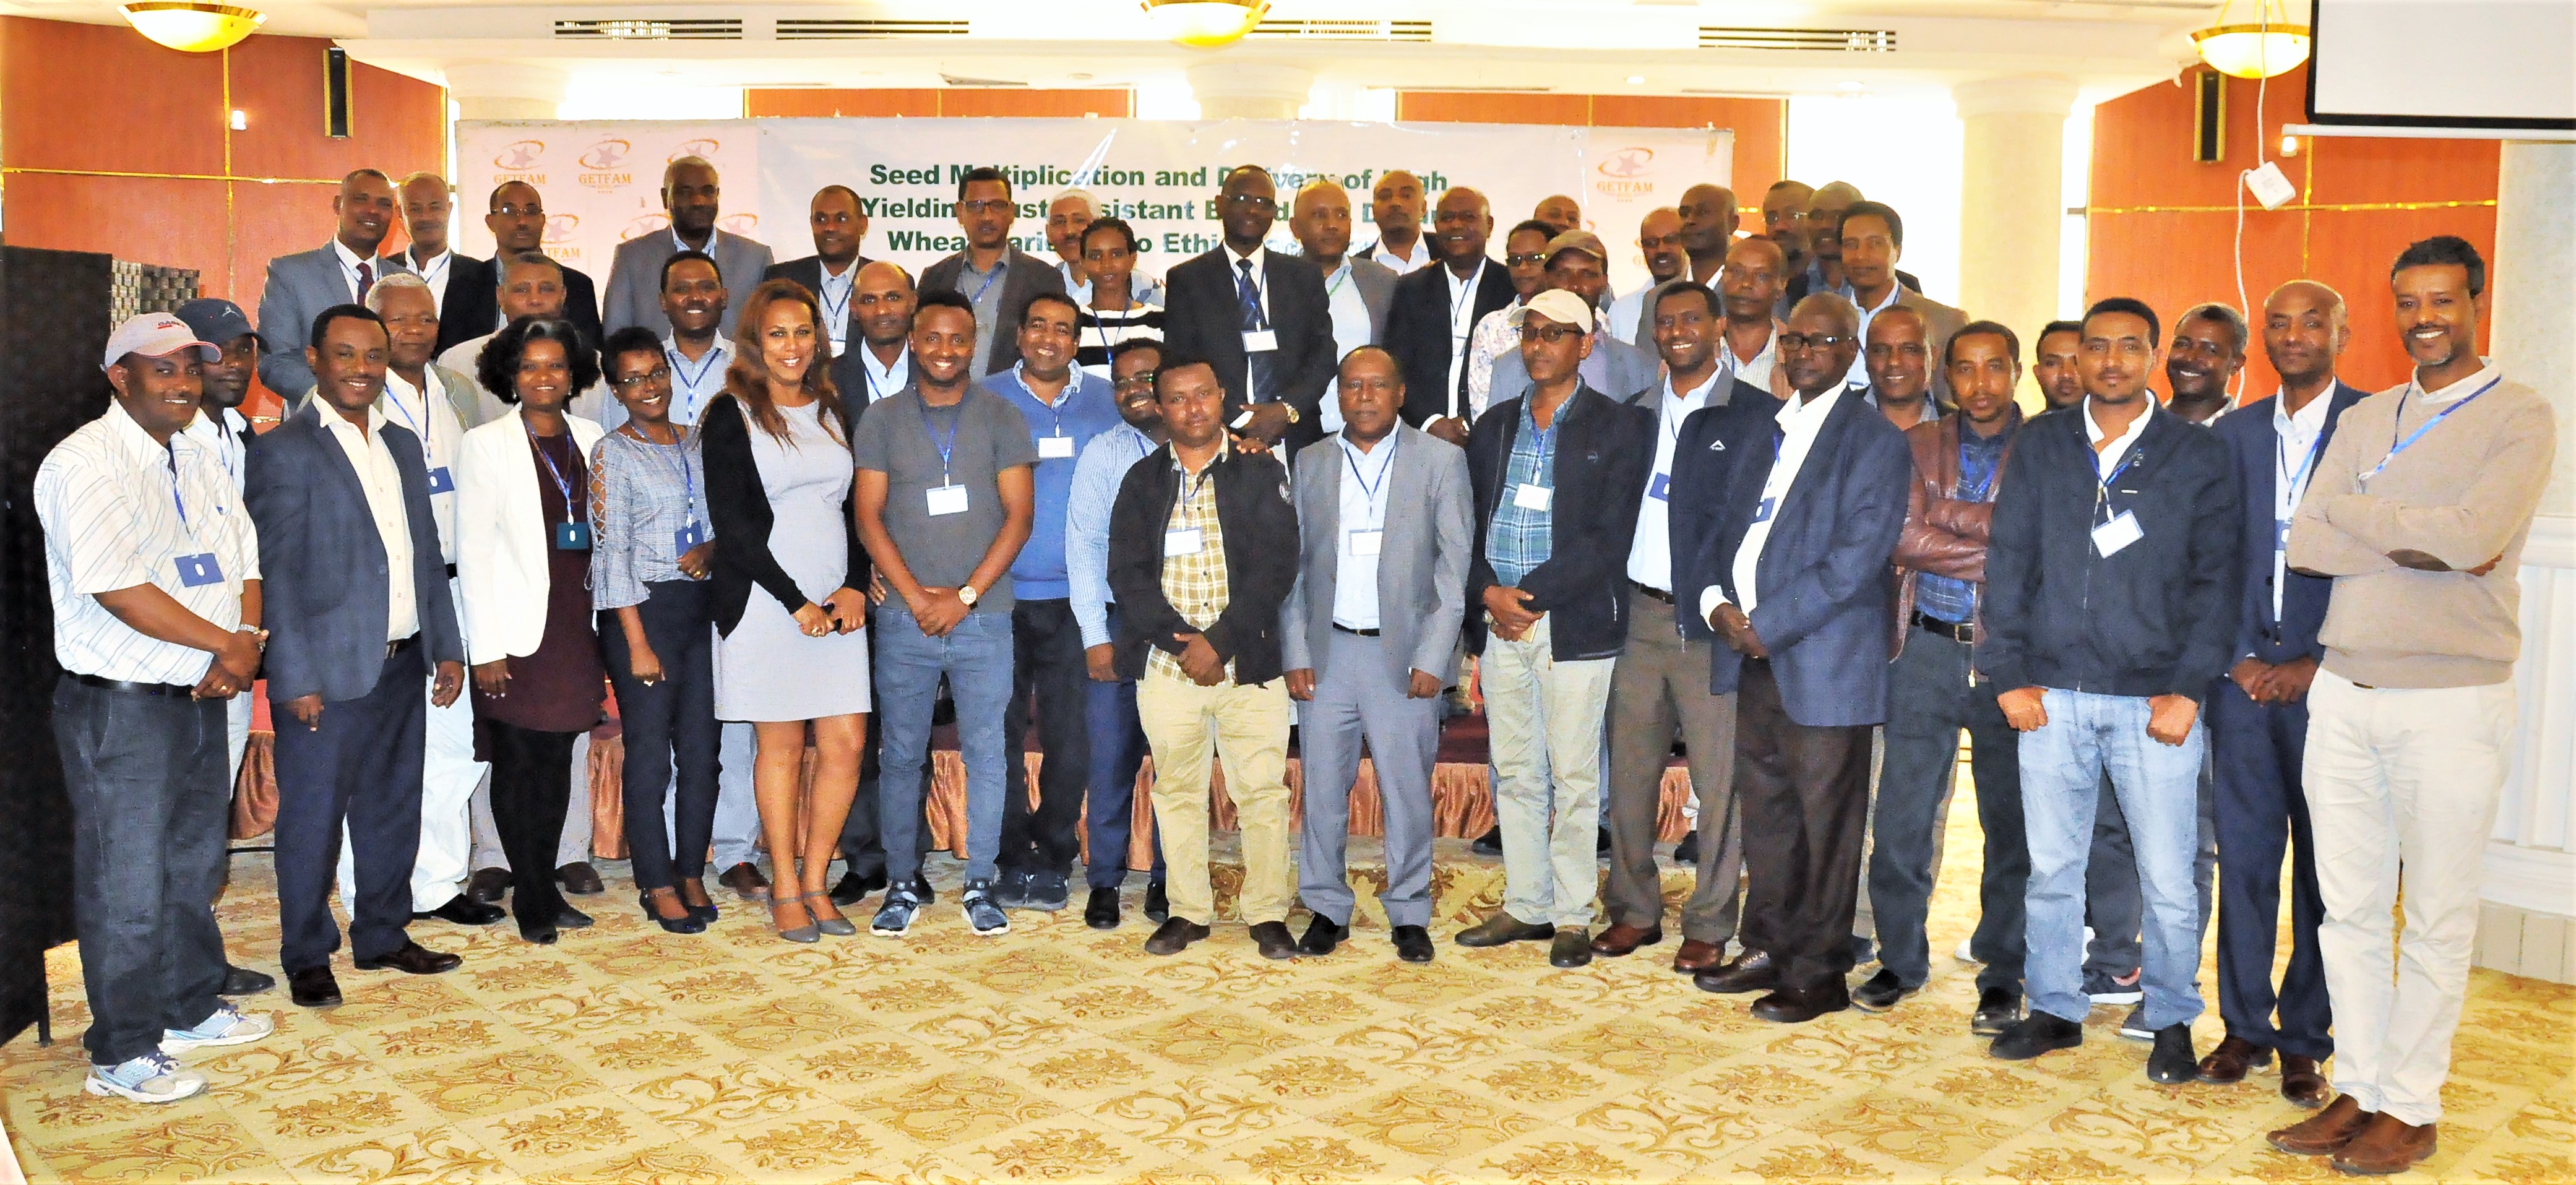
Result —
<instances>
[{"instance_id":1,"label":"man in grey t-shirt, blue jeans and sneakers","mask_svg":"<svg viewBox=\"0 0 2576 1185\"><path fill-rule=\"evenodd\" d=\"M878 819L886 904L871 930L902 935L922 909L912 804L930 760L930 703L940 675L958 708L966 757L966 922L1010 930L994 902L1010 706L1010 562L1028 544L1038 451L1028 420L969 379L974 307L922 291L912 314L912 384L868 407L850 438L858 459L858 538L886 600L876 608L876 719L884 729ZM909 868L907 868L909 866Z\"/></svg>"}]
</instances>

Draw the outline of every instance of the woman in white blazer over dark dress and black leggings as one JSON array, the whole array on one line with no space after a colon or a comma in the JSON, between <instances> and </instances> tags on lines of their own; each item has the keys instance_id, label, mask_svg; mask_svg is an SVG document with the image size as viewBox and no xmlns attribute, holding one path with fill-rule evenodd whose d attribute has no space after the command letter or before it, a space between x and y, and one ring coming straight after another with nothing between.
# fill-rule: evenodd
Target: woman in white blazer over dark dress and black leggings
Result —
<instances>
[{"instance_id":1,"label":"woman in white blazer over dark dress and black leggings","mask_svg":"<svg viewBox=\"0 0 2576 1185\"><path fill-rule=\"evenodd\" d=\"M474 755L492 763L492 827L510 855L510 909L531 943L590 925L554 884L572 801L572 742L600 719L605 667L590 613L590 448L564 415L600 361L562 319L510 322L477 379L510 412L456 459L456 580L474 667Z\"/></svg>"}]
</instances>

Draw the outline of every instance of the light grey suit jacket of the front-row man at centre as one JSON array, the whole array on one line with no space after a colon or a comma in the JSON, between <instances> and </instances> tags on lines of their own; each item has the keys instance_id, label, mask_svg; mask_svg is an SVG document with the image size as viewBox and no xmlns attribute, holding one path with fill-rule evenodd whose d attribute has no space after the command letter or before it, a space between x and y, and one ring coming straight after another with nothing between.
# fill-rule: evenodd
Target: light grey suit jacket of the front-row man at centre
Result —
<instances>
[{"instance_id":1,"label":"light grey suit jacket of the front-row man at centre","mask_svg":"<svg viewBox=\"0 0 2576 1185\"><path fill-rule=\"evenodd\" d=\"M1378 448L1396 448L1378 551L1378 629L1386 654L1396 659L1388 675L1401 685L1409 670L1419 670L1448 685L1458 678L1458 626L1466 621L1466 569L1476 544L1466 448L1406 422L1396 422ZM1340 433L1296 453L1298 567L1280 608L1285 670L1314 670L1332 652L1347 474Z\"/></svg>"}]
</instances>

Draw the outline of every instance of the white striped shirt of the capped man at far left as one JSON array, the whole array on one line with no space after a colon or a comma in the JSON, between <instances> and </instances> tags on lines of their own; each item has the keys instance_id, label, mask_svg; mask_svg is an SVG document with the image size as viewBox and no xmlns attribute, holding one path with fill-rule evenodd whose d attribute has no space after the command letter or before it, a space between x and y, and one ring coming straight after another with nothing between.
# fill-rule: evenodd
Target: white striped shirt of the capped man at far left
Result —
<instances>
[{"instance_id":1,"label":"white striped shirt of the capped man at far left","mask_svg":"<svg viewBox=\"0 0 2576 1185\"><path fill-rule=\"evenodd\" d=\"M250 510L206 441L175 433L162 448L118 402L44 453L36 520L54 600L54 662L75 675L191 685L214 662L204 649L116 621L98 592L155 585L232 631L242 626L242 582L260 580ZM214 554L224 577L188 587L178 559L198 554Z\"/></svg>"}]
</instances>

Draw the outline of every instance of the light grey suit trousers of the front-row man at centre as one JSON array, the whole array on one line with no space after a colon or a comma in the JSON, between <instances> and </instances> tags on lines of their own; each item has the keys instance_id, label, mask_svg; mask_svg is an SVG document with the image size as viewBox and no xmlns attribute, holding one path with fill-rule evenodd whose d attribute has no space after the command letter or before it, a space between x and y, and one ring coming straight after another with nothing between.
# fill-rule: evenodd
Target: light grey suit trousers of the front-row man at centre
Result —
<instances>
[{"instance_id":1,"label":"light grey suit trousers of the front-row man at centre","mask_svg":"<svg viewBox=\"0 0 2576 1185\"><path fill-rule=\"evenodd\" d=\"M1386 641L1334 629L1314 667L1314 701L1298 703L1306 819L1298 827L1298 896L1350 925L1350 783L1360 739L1378 770L1386 811L1386 925L1432 925L1432 763L1440 760L1440 698L1406 696Z\"/></svg>"}]
</instances>

